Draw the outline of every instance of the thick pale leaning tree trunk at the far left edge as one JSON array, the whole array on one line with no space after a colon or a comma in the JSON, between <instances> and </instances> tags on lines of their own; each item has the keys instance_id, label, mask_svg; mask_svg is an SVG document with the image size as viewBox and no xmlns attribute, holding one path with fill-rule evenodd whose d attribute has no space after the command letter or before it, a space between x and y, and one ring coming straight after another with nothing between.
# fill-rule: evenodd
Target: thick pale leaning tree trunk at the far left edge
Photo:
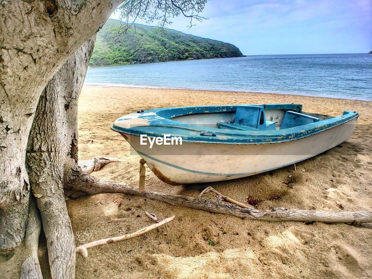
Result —
<instances>
[{"instance_id":1,"label":"thick pale leaning tree trunk at the far left edge","mask_svg":"<svg viewBox=\"0 0 372 279\"><path fill-rule=\"evenodd\" d=\"M0 2L0 250L25 236L28 135L50 78L121 0ZM70 80L71 82L71 80Z\"/></svg>"}]
</instances>

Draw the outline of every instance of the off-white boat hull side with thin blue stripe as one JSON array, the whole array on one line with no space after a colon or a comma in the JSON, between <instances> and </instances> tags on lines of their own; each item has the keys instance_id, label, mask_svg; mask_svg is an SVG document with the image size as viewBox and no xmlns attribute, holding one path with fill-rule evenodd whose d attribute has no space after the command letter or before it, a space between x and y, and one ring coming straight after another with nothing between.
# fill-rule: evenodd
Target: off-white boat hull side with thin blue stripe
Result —
<instances>
[{"instance_id":1,"label":"off-white boat hull side with thin blue stripe","mask_svg":"<svg viewBox=\"0 0 372 279\"><path fill-rule=\"evenodd\" d=\"M352 134L357 118L316 134L278 143L141 145L140 137L121 133L147 166L171 185L237 179L279 169L323 153Z\"/></svg>"}]
</instances>

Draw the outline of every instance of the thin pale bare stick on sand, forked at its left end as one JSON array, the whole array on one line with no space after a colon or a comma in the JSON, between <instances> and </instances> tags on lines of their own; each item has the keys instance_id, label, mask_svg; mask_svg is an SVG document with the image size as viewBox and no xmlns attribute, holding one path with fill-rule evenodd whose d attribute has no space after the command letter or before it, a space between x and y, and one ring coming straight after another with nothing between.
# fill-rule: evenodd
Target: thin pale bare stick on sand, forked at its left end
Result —
<instances>
[{"instance_id":1,"label":"thin pale bare stick on sand, forked at its left end","mask_svg":"<svg viewBox=\"0 0 372 279\"><path fill-rule=\"evenodd\" d=\"M78 247L76 247L76 253L81 253L83 255L83 257L86 258L88 256L87 248L91 248L91 247L94 247L94 246L100 246L100 245L103 245L103 244L114 243L114 242L129 239L129 238L132 238L132 237L140 236L142 234L145 234L148 231L151 231L151 230L153 230L157 227L160 227L161 225L164 225L165 223L171 221L173 218L174 218L174 215L169 217L169 218L166 218L163 221L160 221L156 224L150 225L150 226L145 227L145 228L141 228L140 230L138 230L136 232L133 232L131 234L125 234L125 235L121 235L121 236L118 236L118 237L111 237L111 238L96 240L96 241L78 246Z\"/></svg>"}]
</instances>

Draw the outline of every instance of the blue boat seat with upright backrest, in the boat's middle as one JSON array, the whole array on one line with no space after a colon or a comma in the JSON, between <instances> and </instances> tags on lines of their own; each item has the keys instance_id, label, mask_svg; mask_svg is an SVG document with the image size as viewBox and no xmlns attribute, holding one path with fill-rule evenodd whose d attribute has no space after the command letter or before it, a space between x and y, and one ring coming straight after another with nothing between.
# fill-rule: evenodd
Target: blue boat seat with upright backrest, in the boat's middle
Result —
<instances>
[{"instance_id":1,"label":"blue boat seat with upright backrest, in the boat's middle","mask_svg":"<svg viewBox=\"0 0 372 279\"><path fill-rule=\"evenodd\" d=\"M275 122L265 120L263 106L238 106L234 122L217 123L218 128L230 130L275 130Z\"/></svg>"}]
</instances>

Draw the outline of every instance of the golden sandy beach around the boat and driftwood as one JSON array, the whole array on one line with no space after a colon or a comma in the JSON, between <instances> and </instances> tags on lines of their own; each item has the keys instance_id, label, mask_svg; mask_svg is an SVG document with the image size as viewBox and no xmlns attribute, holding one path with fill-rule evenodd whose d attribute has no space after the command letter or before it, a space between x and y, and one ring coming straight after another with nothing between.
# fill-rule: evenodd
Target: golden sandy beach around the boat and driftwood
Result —
<instances>
[{"instance_id":1,"label":"golden sandy beach around the boat and driftwood","mask_svg":"<svg viewBox=\"0 0 372 279\"><path fill-rule=\"evenodd\" d=\"M84 86L78 104L79 160L124 159L94 172L100 179L138 186L140 157L110 125L138 109L169 106L292 103L331 116L360 117L349 141L309 160L227 182L171 186L149 169L146 189L197 196L215 189L257 208L372 210L372 103L295 95ZM118 207L118 202L120 206ZM137 238L77 255L76 278L370 278L372 225L263 222L172 206L138 196L100 194L67 201L76 244L153 224L145 211L173 221ZM208 240L214 241L210 246ZM43 262L46 259L42 259ZM45 264L45 262L44 262Z\"/></svg>"}]
</instances>

